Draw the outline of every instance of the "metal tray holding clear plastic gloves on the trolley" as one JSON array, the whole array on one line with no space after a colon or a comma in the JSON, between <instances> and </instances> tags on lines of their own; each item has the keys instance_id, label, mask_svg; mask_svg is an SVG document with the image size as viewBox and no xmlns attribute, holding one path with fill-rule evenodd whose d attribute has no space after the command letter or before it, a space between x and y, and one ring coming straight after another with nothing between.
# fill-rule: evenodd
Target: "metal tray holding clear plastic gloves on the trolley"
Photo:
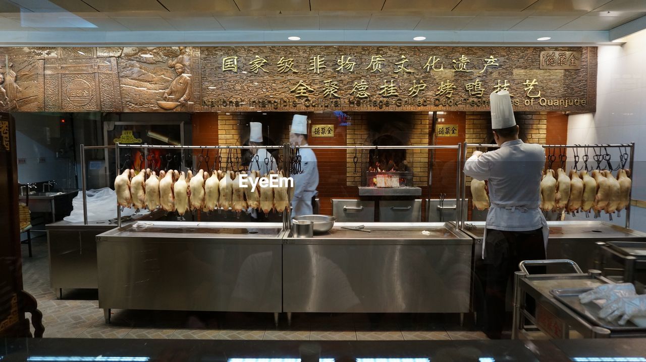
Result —
<instances>
[{"instance_id":1,"label":"metal tray holding clear plastic gloves on the trolley","mask_svg":"<svg viewBox=\"0 0 646 362\"><path fill-rule=\"evenodd\" d=\"M628 321L625 326L621 326L617 323L598 318L597 316L599 315L601 307L594 302L581 304L581 301L579 301L579 295L581 293L591 290L592 288L553 289L551 293L556 300L567 305L567 307L574 310L579 316L585 318L593 325L610 330L610 332L643 332L646 330L638 327L631 321Z\"/></svg>"}]
</instances>

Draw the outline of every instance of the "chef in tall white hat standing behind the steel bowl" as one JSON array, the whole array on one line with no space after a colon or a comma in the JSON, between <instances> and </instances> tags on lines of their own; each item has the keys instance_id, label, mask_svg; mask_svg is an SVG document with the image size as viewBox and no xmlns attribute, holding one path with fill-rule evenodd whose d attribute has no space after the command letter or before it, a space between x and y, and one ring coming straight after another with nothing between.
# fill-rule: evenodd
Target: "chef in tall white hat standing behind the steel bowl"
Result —
<instances>
[{"instance_id":1,"label":"chef in tall white hat standing behind the steel bowl","mask_svg":"<svg viewBox=\"0 0 646 362\"><path fill-rule=\"evenodd\" d=\"M289 143L307 146L307 116L294 115L289 131ZM317 157L311 148L298 149L302 173L290 175L294 179L294 197L291 200L291 217L313 214L312 201L317 195Z\"/></svg>"}]
</instances>

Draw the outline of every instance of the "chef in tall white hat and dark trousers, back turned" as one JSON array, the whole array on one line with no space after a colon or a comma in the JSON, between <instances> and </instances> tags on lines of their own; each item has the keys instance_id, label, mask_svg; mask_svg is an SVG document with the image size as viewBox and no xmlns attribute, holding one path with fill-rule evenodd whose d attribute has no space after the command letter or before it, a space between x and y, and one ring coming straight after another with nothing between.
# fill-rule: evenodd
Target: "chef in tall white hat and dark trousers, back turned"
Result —
<instances>
[{"instance_id":1,"label":"chef in tall white hat and dark trousers, back turned","mask_svg":"<svg viewBox=\"0 0 646 362\"><path fill-rule=\"evenodd\" d=\"M505 321L505 292L510 276L523 260L543 260L547 249L547 222L539 209L545 150L525 144L508 91L492 93L491 118L495 151L474 151L464 174L487 180L491 207L486 218L483 265L478 276L483 301L478 319L492 339L501 338Z\"/></svg>"}]
</instances>

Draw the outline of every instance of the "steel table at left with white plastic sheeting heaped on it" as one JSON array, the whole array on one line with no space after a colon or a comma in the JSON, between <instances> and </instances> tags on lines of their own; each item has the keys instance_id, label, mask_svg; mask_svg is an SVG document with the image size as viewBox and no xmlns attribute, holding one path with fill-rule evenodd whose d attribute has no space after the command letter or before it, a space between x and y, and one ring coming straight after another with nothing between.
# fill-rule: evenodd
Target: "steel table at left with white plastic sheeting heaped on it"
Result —
<instances>
[{"instance_id":1,"label":"steel table at left with white plastic sheeting heaped on it","mask_svg":"<svg viewBox=\"0 0 646 362\"><path fill-rule=\"evenodd\" d=\"M156 220L163 211L136 215L132 220ZM50 285L59 298L63 288L98 288L96 272L96 236L117 227L116 220L68 222L61 220L47 224Z\"/></svg>"}]
</instances>

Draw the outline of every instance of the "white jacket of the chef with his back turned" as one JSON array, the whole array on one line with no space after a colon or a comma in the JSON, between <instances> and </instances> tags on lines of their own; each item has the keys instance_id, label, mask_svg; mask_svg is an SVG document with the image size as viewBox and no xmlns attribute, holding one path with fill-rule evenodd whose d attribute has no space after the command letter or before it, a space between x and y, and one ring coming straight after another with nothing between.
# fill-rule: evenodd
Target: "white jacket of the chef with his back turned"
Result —
<instances>
[{"instance_id":1,"label":"white jacket of the chef with his back turned","mask_svg":"<svg viewBox=\"0 0 646 362\"><path fill-rule=\"evenodd\" d=\"M505 142L495 151L466 160L465 175L488 180L488 229L530 231L547 225L539 209L544 167L543 147L522 140Z\"/></svg>"}]
</instances>

